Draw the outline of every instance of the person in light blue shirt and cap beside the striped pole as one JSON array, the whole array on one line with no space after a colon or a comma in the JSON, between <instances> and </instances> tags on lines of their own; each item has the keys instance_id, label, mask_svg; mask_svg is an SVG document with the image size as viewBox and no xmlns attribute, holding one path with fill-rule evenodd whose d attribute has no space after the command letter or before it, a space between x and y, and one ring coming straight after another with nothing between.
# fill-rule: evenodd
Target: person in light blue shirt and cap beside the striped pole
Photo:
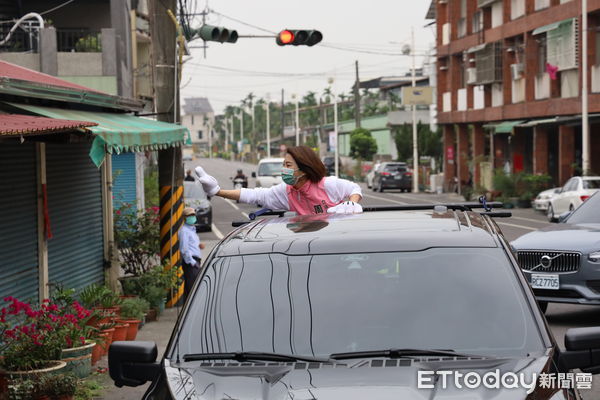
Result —
<instances>
[{"instance_id":1,"label":"person in light blue shirt and cap beside the striped pole","mask_svg":"<svg viewBox=\"0 0 600 400\"><path fill-rule=\"evenodd\" d=\"M196 210L186 207L183 210L184 223L179 229L179 251L183 264L183 300L185 301L200 272L204 244L196 233Z\"/></svg>"}]
</instances>

